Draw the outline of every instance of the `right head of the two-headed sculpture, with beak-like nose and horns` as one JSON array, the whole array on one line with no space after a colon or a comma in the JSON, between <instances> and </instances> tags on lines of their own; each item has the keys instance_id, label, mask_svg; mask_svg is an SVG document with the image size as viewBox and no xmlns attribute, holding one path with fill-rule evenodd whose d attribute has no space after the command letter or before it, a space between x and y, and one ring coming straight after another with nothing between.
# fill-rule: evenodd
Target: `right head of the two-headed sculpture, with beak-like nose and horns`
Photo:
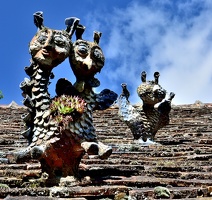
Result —
<instances>
[{"instance_id":1,"label":"right head of the two-headed sculpture, with beak-like nose and horns","mask_svg":"<svg viewBox=\"0 0 212 200\"><path fill-rule=\"evenodd\" d=\"M71 68L78 81L92 79L104 66L105 57L99 47L101 33L94 32L94 41L86 41L81 38L85 27L76 28L77 40L73 43L73 49L69 58Z\"/></svg>"}]
</instances>

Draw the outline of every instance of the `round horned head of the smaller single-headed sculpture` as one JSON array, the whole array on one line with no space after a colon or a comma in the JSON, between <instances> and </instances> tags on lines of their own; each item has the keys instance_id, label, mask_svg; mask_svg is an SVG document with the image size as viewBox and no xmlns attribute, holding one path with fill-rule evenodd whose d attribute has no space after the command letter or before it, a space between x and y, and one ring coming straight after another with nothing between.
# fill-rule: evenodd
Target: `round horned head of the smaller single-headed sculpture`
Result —
<instances>
[{"instance_id":1,"label":"round horned head of the smaller single-headed sculpture","mask_svg":"<svg viewBox=\"0 0 212 200\"><path fill-rule=\"evenodd\" d=\"M146 81L146 72L141 73L142 83L138 86L137 93L144 104L154 106L165 98L166 90L158 84L159 75L159 72L155 72L155 80Z\"/></svg>"}]
</instances>

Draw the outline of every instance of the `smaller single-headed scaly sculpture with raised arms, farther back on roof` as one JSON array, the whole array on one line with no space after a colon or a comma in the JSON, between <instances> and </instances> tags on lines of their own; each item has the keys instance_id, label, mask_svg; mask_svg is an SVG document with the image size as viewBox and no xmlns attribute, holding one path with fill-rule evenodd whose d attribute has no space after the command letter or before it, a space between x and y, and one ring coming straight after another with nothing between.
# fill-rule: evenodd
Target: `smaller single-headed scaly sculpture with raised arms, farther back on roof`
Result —
<instances>
[{"instance_id":1,"label":"smaller single-headed scaly sculpture with raised arms, farther back on roof","mask_svg":"<svg viewBox=\"0 0 212 200\"><path fill-rule=\"evenodd\" d=\"M154 73L154 80L146 80L146 72L141 73L142 83L137 88L138 96L143 101L142 106L132 106L128 100L127 85L122 84L122 94L119 96L119 116L130 128L134 139L153 141L157 131L169 124L171 101L175 94L170 93L165 100L166 90L159 85L159 72ZM155 105L160 103L157 107Z\"/></svg>"}]
</instances>

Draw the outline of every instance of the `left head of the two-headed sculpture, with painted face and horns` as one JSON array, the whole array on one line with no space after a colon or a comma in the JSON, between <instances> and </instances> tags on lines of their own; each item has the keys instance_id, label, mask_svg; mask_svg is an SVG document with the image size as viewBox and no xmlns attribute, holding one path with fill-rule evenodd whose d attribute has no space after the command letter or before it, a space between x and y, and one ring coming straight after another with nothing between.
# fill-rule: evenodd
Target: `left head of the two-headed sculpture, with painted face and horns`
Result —
<instances>
[{"instance_id":1,"label":"left head of the two-headed sculpture, with painted face and horns","mask_svg":"<svg viewBox=\"0 0 212 200\"><path fill-rule=\"evenodd\" d=\"M29 44L32 59L50 69L62 63L69 56L71 36L78 22L78 18L70 17L65 20L66 30L54 30L43 25L43 12L34 13L38 32Z\"/></svg>"}]
</instances>

